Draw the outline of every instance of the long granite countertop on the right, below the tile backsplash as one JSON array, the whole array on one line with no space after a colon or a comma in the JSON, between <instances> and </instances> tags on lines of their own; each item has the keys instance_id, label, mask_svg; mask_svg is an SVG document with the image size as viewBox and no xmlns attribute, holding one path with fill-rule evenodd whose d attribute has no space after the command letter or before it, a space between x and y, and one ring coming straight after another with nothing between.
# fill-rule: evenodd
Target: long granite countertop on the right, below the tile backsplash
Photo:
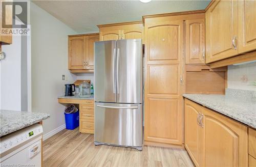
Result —
<instances>
[{"instance_id":1,"label":"long granite countertop on the right, below the tile backsplash","mask_svg":"<svg viewBox=\"0 0 256 167\"><path fill-rule=\"evenodd\" d=\"M226 95L183 94L183 97L256 129L256 100L254 98L237 96L227 91Z\"/></svg>"}]
</instances>

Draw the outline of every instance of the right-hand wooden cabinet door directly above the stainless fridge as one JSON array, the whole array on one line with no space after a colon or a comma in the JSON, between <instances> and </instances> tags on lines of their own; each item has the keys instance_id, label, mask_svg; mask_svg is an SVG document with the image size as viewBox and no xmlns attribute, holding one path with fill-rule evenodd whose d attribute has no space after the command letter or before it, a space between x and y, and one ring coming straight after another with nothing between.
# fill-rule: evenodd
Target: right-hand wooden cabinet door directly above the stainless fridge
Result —
<instances>
[{"instance_id":1,"label":"right-hand wooden cabinet door directly above the stainless fridge","mask_svg":"<svg viewBox=\"0 0 256 167\"><path fill-rule=\"evenodd\" d=\"M123 26L125 27L125 25ZM122 39L142 39L143 24L126 25L128 29L122 30Z\"/></svg>"}]
</instances>

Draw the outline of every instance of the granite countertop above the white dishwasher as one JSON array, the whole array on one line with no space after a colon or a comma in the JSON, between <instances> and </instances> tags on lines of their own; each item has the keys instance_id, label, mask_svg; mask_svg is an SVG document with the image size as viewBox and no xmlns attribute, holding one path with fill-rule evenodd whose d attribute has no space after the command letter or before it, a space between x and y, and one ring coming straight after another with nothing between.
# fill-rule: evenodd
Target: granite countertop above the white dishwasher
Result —
<instances>
[{"instance_id":1,"label":"granite countertop above the white dishwasher","mask_svg":"<svg viewBox=\"0 0 256 167\"><path fill-rule=\"evenodd\" d=\"M49 118L46 113L0 110L0 137Z\"/></svg>"}]
</instances>

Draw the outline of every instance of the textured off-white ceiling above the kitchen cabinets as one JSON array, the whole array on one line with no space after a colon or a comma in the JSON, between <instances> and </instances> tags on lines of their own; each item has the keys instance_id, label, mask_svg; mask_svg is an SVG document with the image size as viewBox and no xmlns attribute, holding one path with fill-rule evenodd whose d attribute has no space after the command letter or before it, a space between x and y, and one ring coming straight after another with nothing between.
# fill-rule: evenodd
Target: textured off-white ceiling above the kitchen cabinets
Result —
<instances>
[{"instance_id":1,"label":"textured off-white ceiling above the kitchen cabinets","mask_svg":"<svg viewBox=\"0 0 256 167\"><path fill-rule=\"evenodd\" d=\"M210 1L33 1L77 33L96 32L98 24L142 20L143 15L201 10Z\"/></svg>"}]
</instances>

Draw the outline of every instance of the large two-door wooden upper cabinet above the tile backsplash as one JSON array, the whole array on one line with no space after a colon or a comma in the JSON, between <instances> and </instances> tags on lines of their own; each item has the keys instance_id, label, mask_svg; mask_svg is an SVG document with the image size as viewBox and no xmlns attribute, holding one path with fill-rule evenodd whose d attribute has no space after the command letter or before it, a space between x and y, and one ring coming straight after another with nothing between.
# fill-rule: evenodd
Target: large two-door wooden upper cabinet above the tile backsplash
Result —
<instances>
[{"instance_id":1,"label":"large two-door wooden upper cabinet above the tile backsplash","mask_svg":"<svg viewBox=\"0 0 256 167\"><path fill-rule=\"evenodd\" d=\"M206 63L256 49L256 2L219 0L205 13Z\"/></svg>"}]
</instances>

